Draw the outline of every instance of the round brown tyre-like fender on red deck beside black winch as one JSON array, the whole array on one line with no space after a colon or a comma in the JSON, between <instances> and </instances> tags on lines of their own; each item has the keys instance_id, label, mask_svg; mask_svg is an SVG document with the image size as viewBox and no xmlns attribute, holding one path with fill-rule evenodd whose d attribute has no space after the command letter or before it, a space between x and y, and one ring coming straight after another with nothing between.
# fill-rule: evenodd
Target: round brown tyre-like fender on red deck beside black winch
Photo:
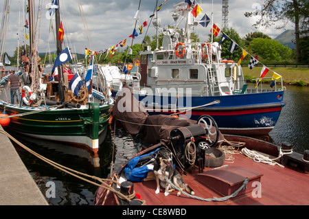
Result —
<instances>
[{"instance_id":1,"label":"round brown tyre-like fender on red deck beside black winch","mask_svg":"<svg viewBox=\"0 0 309 219\"><path fill-rule=\"evenodd\" d=\"M218 168L225 163L225 152L217 148L209 148L205 150L205 167Z\"/></svg>"}]
</instances>

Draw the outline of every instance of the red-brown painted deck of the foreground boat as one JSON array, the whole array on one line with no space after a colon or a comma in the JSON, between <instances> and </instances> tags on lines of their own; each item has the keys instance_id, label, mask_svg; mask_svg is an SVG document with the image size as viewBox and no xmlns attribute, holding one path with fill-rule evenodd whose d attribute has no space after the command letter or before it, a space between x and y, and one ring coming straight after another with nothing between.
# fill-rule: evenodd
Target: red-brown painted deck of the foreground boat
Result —
<instances>
[{"instance_id":1,"label":"red-brown painted deck of the foreground boat","mask_svg":"<svg viewBox=\"0 0 309 219\"><path fill-rule=\"evenodd\" d=\"M216 170L205 168L203 174L198 174L196 169L194 174L183 174L183 180L192 187L194 196L201 198L220 198L231 194L242 185L244 178L251 178L247 189L229 200L207 202L184 194L178 197L177 192L164 196L162 187L160 193L155 194L155 180L134 183L135 192L141 195L141 200L146 200L146 205L309 205L308 173L257 163L242 154L233 154L233 157L233 163L226 161ZM255 181L260 181L260 198L256 197L258 186L253 183ZM235 183L238 184L234 185Z\"/></svg>"}]
</instances>

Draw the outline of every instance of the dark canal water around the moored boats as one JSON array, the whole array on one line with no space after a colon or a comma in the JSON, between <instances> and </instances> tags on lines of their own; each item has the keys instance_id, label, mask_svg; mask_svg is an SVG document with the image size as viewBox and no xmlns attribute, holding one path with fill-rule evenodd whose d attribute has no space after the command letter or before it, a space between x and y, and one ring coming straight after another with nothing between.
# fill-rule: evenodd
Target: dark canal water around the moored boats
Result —
<instances>
[{"instance_id":1,"label":"dark canal water around the moored boats","mask_svg":"<svg viewBox=\"0 0 309 219\"><path fill-rule=\"evenodd\" d=\"M284 95L286 106L282 109L279 121L275 128L265 136L259 138L280 145L284 141L293 143L294 150L304 152L309 149L309 87L286 86ZM61 143L52 143L16 136L27 147L38 152L52 161L56 161L68 168L87 173L93 176L106 178L111 171L111 161L115 162L114 169L139 152L144 144L135 141L121 128L115 130L115 139L110 130L106 133L104 142L100 145L98 159L93 159L84 150L68 148ZM25 163L30 174L46 194L48 181L56 185L56 196L47 198L50 205L93 205L97 187L86 183L74 176L64 173L34 155L16 146L17 152ZM95 163L100 163L100 168L95 168Z\"/></svg>"}]
</instances>

